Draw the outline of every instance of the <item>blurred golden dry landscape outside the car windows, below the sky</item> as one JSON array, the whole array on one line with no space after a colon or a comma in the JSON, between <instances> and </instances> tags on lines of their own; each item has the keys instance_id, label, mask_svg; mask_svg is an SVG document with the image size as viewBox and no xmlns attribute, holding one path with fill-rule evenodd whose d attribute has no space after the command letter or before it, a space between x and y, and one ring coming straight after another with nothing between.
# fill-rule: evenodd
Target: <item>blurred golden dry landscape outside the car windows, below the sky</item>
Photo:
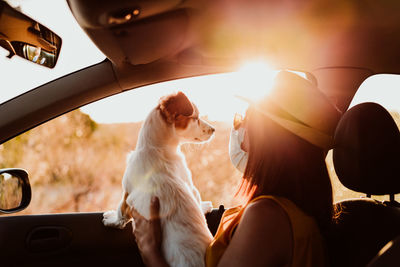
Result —
<instances>
[{"instance_id":1,"label":"blurred golden dry landscape outside the car windows, below the sky","mask_svg":"<svg viewBox=\"0 0 400 267\"><path fill-rule=\"evenodd\" d=\"M399 125L400 116L393 113ZM193 182L214 207L240 203L235 192L241 175L228 155L230 124L216 128L207 144L182 147ZM122 194L126 156L135 149L141 123L97 124L76 110L0 145L0 168L23 168L32 185L32 202L24 214L91 212L115 209ZM332 165L334 200L360 197L344 188Z\"/></svg>"}]
</instances>

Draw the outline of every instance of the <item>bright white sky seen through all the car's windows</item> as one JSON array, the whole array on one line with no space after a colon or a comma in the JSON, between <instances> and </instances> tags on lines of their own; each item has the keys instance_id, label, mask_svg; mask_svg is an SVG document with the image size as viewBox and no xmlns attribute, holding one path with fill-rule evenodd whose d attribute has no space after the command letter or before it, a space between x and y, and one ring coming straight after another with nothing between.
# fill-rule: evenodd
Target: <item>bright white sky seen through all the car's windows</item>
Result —
<instances>
[{"instance_id":1,"label":"bright white sky seen through all the car's windows","mask_svg":"<svg viewBox=\"0 0 400 267\"><path fill-rule=\"evenodd\" d=\"M36 18L63 39L59 62L48 69L14 56L0 47L0 103L72 71L98 63L105 57L76 23L64 0L19 0L23 13ZM42 8L48 6L48 8ZM51 10L52 12L48 12ZM65 12L67 10L67 12ZM51 26L50 26L51 25ZM246 104L235 95L267 93L276 71L267 62L245 62L237 72L169 81L131 90L100 100L81 110L99 123L141 121L157 104L160 96L183 91L208 119L231 121ZM259 87L249 87L259 84ZM400 76L377 75L368 78L352 105L373 101L389 110L400 111Z\"/></svg>"}]
</instances>

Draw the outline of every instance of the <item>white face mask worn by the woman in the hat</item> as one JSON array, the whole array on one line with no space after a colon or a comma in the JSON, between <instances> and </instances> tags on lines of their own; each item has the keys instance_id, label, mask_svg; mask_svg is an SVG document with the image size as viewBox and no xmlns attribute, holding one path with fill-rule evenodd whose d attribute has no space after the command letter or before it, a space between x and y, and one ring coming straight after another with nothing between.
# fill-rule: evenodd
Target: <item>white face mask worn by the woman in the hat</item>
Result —
<instances>
[{"instance_id":1,"label":"white face mask worn by the woman in the hat","mask_svg":"<svg viewBox=\"0 0 400 267\"><path fill-rule=\"evenodd\" d=\"M246 169L249 157L247 152L241 148L244 133L244 128L239 128L238 130L232 128L229 139L229 157L231 158L232 164L242 173L244 173L244 170Z\"/></svg>"}]
</instances>

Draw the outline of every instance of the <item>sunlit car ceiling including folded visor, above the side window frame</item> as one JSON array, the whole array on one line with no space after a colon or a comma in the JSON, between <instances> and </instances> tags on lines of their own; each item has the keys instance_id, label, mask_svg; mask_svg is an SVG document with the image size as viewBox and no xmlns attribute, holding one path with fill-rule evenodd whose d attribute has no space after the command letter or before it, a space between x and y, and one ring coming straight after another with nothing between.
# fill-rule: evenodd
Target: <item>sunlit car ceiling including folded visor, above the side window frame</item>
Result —
<instances>
[{"instance_id":1,"label":"sunlit car ceiling including folded visor, above the side window frame","mask_svg":"<svg viewBox=\"0 0 400 267\"><path fill-rule=\"evenodd\" d=\"M116 66L162 59L233 66L263 58L277 68L310 72L344 66L400 73L396 0L68 3L81 27Z\"/></svg>"}]
</instances>

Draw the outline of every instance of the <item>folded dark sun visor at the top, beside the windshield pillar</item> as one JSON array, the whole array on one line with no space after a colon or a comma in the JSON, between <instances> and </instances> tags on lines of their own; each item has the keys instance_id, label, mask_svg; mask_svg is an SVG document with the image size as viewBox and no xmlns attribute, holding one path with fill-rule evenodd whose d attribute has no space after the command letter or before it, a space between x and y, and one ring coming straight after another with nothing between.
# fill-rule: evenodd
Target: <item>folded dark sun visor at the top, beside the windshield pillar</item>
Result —
<instances>
[{"instance_id":1,"label":"folded dark sun visor at the top, beside the windshield pillar","mask_svg":"<svg viewBox=\"0 0 400 267\"><path fill-rule=\"evenodd\" d=\"M118 7L102 3L108 1L68 2L78 23L114 64L147 64L185 48L189 19L185 9L174 9L180 1L117 1Z\"/></svg>"}]
</instances>

